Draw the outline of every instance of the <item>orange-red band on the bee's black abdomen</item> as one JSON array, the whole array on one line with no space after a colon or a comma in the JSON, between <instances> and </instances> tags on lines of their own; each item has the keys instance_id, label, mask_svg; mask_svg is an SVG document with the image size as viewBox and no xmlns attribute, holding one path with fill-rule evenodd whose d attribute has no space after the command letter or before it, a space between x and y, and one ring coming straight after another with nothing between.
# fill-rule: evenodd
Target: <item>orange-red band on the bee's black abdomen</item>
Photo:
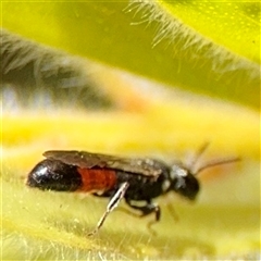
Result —
<instances>
[{"instance_id":1,"label":"orange-red band on the bee's black abdomen","mask_svg":"<svg viewBox=\"0 0 261 261\"><path fill-rule=\"evenodd\" d=\"M113 188L116 183L116 172L107 169L77 169L83 186L78 191L95 192Z\"/></svg>"}]
</instances>

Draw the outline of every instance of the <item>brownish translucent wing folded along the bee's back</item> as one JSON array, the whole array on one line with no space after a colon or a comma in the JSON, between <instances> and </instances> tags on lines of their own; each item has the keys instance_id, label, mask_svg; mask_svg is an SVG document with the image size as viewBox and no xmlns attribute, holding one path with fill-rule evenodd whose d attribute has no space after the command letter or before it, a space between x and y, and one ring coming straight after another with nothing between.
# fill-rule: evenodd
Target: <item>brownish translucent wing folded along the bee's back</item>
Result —
<instances>
[{"instance_id":1,"label":"brownish translucent wing folded along the bee's back","mask_svg":"<svg viewBox=\"0 0 261 261\"><path fill-rule=\"evenodd\" d=\"M159 176L167 167L163 162L148 158L132 159L77 150L49 150L44 156L79 167L116 169L146 176Z\"/></svg>"}]
</instances>

